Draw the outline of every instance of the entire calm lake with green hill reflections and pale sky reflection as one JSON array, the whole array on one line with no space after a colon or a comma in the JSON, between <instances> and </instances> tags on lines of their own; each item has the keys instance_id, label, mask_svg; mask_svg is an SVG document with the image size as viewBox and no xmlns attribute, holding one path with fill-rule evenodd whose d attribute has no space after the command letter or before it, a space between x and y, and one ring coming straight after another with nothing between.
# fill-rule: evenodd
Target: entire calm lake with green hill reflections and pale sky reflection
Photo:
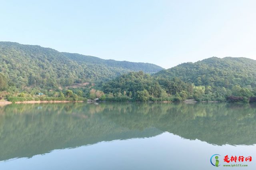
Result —
<instances>
[{"instance_id":1,"label":"entire calm lake with green hill reflections and pale sky reflection","mask_svg":"<svg viewBox=\"0 0 256 170\"><path fill-rule=\"evenodd\" d=\"M225 156L230 162L224 162ZM256 169L255 104L0 106L0 170L214 170L230 166Z\"/></svg>"}]
</instances>

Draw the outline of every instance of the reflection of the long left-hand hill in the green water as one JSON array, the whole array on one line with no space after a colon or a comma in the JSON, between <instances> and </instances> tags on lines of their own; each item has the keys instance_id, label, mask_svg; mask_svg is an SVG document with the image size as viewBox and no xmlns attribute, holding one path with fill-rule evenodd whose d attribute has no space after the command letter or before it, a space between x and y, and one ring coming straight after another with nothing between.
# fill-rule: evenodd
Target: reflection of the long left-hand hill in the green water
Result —
<instances>
[{"instance_id":1,"label":"reflection of the long left-hand hill in the green water","mask_svg":"<svg viewBox=\"0 0 256 170\"><path fill-rule=\"evenodd\" d=\"M54 149L101 141L142 138L156 128L129 130L104 118L104 106L84 104L9 105L0 110L0 160L31 157Z\"/></svg>"}]
</instances>

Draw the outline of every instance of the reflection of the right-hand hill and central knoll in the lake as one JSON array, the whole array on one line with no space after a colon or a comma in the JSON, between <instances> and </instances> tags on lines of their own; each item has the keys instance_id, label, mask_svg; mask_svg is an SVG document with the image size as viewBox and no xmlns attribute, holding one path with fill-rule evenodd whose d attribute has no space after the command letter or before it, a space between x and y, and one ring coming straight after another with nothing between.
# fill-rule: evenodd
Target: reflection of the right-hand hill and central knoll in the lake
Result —
<instances>
[{"instance_id":1,"label":"reflection of the right-hand hill and central knoll in the lake","mask_svg":"<svg viewBox=\"0 0 256 170\"><path fill-rule=\"evenodd\" d=\"M210 144L256 143L255 105L158 103L131 107L134 107L134 111L129 114L112 111L116 114L110 115L110 119L129 129L156 127L183 138L197 138ZM148 107L147 113L143 107Z\"/></svg>"}]
</instances>

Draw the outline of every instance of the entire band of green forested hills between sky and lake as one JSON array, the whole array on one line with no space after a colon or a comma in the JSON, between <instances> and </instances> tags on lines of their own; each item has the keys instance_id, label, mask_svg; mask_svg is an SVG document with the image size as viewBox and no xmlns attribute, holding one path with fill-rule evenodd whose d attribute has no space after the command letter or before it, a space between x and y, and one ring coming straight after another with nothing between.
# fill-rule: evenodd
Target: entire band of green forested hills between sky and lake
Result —
<instances>
[{"instance_id":1,"label":"entire band of green forested hills between sky and lake","mask_svg":"<svg viewBox=\"0 0 256 170\"><path fill-rule=\"evenodd\" d=\"M256 61L212 57L164 70L0 42L0 100L256 101Z\"/></svg>"}]
</instances>

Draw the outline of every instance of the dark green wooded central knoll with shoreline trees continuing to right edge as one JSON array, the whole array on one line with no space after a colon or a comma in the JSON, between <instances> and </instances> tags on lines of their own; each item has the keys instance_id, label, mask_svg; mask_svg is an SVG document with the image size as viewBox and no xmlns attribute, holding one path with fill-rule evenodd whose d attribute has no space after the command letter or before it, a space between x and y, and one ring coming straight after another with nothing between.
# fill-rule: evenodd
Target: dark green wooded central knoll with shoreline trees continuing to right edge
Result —
<instances>
[{"instance_id":1,"label":"dark green wooded central knoll with shoreline trees continuing to right edge","mask_svg":"<svg viewBox=\"0 0 256 170\"><path fill-rule=\"evenodd\" d=\"M132 72L122 75L103 85L106 98L116 97L131 99L133 101L255 101L256 89L250 85L240 87L234 85L231 88L209 85L196 86L194 83L186 83L178 77L165 79L149 74Z\"/></svg>"}]
</instances>

